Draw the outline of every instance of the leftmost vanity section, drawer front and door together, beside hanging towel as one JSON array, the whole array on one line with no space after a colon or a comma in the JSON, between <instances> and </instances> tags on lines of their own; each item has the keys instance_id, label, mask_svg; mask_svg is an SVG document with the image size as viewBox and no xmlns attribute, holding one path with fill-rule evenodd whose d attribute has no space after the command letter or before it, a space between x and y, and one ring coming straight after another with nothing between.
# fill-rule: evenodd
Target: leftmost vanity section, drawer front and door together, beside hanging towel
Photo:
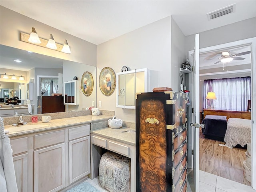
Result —
<instances>
[{"instance_id":1,"label":"leftmost vanity section, drawer front and door together, beside hanging towel","mask_svg":"<svg viewBox=\"0 0 256 192\"><path fill-rule=\"evenodd\" d=\"M10 140L13 164L19 192L28 191L28 138Z\"/></svg>"}]
</instances>

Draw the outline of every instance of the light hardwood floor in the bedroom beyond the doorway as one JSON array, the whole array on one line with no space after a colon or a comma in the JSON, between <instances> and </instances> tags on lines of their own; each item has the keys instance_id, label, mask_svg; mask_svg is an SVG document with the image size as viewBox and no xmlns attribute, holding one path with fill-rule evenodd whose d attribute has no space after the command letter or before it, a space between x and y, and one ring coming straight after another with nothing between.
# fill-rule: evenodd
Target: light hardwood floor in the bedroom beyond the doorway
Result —
<instances>
[{"instance_id":1,"label":"light hardwood floor in the bedroom beyond the doorway","mask_svg":"<svg viewBox=\"0 0 256 192\"><path fill-rule=\"evenodd\" d=\"M244 178L243 161L246 159L246 149L219 146L224 142L205 139L200 130L199 139L199 169L229 180L251 186Z\"/></svg>"}]
</instances>

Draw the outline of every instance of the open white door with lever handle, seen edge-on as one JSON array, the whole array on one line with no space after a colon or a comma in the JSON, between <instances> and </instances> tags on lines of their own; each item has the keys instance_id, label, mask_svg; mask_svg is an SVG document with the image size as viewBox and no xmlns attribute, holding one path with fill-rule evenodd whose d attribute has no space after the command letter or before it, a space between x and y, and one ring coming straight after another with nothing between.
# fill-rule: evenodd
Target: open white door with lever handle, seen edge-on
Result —
<instances>
[{"instance_id":1,"label":"open white door with lever handle, seen edge-on","mask_svg":"<svg viewBox=\"0 0 256 192\"><path fill-rule=\"evenodd\" d=\"M193 90L193 108L194 114L192 115L192 124L194 129L194 152L193 152L193 170L194 170L194 184L195 191L199 191L199 34L195 36L194 58L193 64L194 70L192 72L194 90Z\"/></svg>"}]
</instances>

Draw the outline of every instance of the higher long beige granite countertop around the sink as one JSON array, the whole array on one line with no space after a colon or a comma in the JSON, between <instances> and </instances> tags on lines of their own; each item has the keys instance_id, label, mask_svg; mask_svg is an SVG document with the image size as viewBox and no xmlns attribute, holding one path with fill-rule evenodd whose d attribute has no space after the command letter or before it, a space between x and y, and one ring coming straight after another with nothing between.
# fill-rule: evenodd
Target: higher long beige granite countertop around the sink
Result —
<instances>
[{"instance_id":1,"label":"higher long beige granite countertop around the sink","mask_svg":"<svg viewBox=\"0 0 256 192\"><path fill-rule=\"evenodd\" d=\"M9 138L11 138L14 136L21 136L21 135L25 135L25 134L31 134L31 133L42 132L42 131L47 131L47 130L65 128L68 126L77 126L77 125L81 125L81 124L85 124L85 123L99 122L102 120L107 121L109 118L112 118L112 116L85 115L85 116L78 116L78 117L71 117L71 118L54 119L54 120L50 120L47 123L43 123L42 121L38 121L37 123L30 122L27 124L30 126L29 129L26 128L26 125L21 125L21 126L6 125L6 126L4 126L4 130L9 131L9 133L7 135L9 136ZM33 128L31 125L35 125L35 126L42 125L43 127ZM22 129L23 128L22 126L24 127L24 129Z\"/></svg>"}]
</instances>

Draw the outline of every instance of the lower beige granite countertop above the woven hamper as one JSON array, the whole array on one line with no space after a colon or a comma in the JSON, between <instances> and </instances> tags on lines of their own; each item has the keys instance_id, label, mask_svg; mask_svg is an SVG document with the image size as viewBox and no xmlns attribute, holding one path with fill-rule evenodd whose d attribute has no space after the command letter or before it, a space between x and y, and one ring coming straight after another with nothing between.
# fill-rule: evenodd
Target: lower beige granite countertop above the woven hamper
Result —
<instances>
[{"instance_id":1,"label":"lower beige granite countertop above the woven hamper","mask_svg":"<svg viewBox=\"0 0 256 192\"><path fill-rule=\"evenodd\" d=\"M112 128L107 127L107 128L97 129L97 130L91 130L90 133L135 146L136 133L135 132L122 133L122 131L126 131L126 130L135 130L135 129L127 128L127 127L121 127L119 129L112 129Z\"/></svg>"}]
</instances>

